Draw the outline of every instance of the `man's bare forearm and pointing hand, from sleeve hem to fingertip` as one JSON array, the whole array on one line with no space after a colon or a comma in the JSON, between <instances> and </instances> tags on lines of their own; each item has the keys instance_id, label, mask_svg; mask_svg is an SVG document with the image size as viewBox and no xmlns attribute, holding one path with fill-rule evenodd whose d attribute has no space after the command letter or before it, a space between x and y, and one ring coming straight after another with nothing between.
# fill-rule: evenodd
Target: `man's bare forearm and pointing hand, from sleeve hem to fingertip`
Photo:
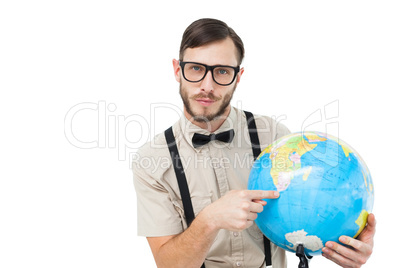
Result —
<instances>
[{"instance_id":1,"label":"man's bare forearm and pointing hand, from sleeve hem to fingertip","mask_svg":"<svg viewBox=\"0 0 402 268\"><path fill-rule=\"evenodd\" d=\"M266 202L278 198L274 191L230 191L205 207L183 233L148 237L158 267L196 267L205 260L220 229L242 231L253 225Z\"/></svg>"}]
</instances>

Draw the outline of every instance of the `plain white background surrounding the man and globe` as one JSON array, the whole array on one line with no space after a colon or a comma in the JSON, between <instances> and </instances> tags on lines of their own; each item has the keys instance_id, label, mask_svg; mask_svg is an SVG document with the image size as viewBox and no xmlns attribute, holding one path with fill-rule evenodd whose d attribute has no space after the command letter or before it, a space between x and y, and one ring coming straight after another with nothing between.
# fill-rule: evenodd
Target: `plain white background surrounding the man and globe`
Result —
<instances>
[{"instance_id":1,"label":"plain white background surrounding the man and globe","mask_svg":"<svg viewBox=\"0 0 402 268\"><path fill-rule=\"evenodd\" d=\"M155 267L136 235L129 159L178 119L171 60L202 17L244 41L234 106L339 135L363 156L378 221L365 267L396 266L401 4L265 2L2 1L0 267Z\"/></svg>"}]
</instances>

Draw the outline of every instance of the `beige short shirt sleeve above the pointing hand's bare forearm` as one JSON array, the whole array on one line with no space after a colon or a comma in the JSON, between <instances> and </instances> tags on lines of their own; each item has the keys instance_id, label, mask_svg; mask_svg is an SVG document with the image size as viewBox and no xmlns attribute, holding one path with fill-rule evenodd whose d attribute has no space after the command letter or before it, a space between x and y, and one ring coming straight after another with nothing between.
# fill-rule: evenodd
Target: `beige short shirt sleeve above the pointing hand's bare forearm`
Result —
<instances>
[{"instance_id":1,"label":"beige short shirt sleeve above the pointing hand's bare forearm","mask_svg":"<svg viewBox=\"0 0 402 268\"><path fill-rule=\"evenodd\" d=\"M183 213L169 185L163 180L165 176L172 175L169 172L172 166L166 165L170 159L149 150L144 153L141 149L138 156L132 163L137 195L138 235L158 237L183 232Z\"/></svg>"}]
</instances>

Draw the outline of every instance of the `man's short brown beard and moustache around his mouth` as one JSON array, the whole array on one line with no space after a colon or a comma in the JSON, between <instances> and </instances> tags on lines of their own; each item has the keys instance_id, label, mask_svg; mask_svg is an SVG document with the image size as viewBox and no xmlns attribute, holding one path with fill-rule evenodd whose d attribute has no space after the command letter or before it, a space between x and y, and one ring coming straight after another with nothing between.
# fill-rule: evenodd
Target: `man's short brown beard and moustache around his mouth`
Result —
<instances>
[{"instance_id":1,"label":"man's short brown beard and moustache around his mouth","mask_svg":"<svg viewBox=\"0 0 402 268\"><path fill-rule=\"evenodd\" d=\"M197 121L197 122L209 122L212 120L219 119L226 111L227 107L230 105L230 101L232 100L233 93L236 89L236 85L234 86L233 90L223 96L223 102L218 108L218 110L215 113L210 113L210 114L196 114L195 111L191 108L190 106L190 99L197 99L197 98L208 98L213 101L219 101L222 99L222 97L216 97L213 95L211 92L208 94L197 94L195 96L189 97L188 96L188 91L184 89L184 86L182 83L180 83L180 96L181 99L183 100L184 108L186 111L191 115L191 117Z\"/></svg>"}]
</instances>

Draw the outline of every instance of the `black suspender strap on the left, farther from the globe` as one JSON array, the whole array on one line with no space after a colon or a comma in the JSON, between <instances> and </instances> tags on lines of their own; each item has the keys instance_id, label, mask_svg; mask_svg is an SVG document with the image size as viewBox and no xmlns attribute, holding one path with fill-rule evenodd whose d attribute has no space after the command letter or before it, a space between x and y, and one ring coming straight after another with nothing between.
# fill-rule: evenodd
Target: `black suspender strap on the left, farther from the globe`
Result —
<instances>
[{"instance_id":1,"label":"black suspender strap on the left, farther from the globe","mask_svg":"<svg viewBox=\"0 0 402 268\"><path fill-rule=\"evenodd\" d=\"M194 220L194 210L193 204L191 202L190 192L188 190L188 184L186 179L186 174L184 173L183 164L180 160L179 151L177 149L176 140L173 135L172 127L165 131L166 142L169 147L170 156L172 157L172 163L174 172L176 173L177 183L179 184L179 190L181 195L181 200L183 202L184 215L186 216L187 226ZM205 264L201 265L201 268L205 268Z\"/></svg>"}]
</instances>

